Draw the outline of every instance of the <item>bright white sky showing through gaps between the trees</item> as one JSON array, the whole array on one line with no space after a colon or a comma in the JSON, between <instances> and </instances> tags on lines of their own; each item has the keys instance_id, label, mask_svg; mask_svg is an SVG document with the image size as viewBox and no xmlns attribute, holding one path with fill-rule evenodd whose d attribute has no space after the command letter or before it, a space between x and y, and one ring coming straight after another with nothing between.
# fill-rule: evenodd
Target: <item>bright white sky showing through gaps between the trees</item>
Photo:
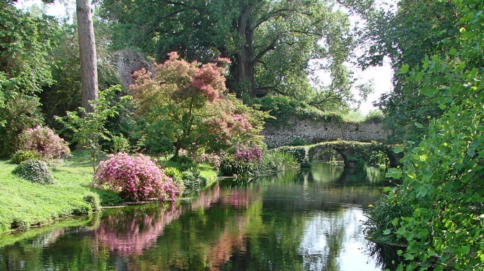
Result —
<instances>
[{"instance_id":1,"label":"bright white sky showing through gaps between the trees","mask_svg":"<svg viewBox=\"0 0 484 271\"><path fill-rule=\"evenodd\" d=\"M389 2L393 4L396 3L396 1L398 0L389 0ZM17 3L17 6L28 8L30 6L37 5L48 15L61 18L72 17L72 14L75 10L75 1L63 2L64 3L60 3L60 1L55 1L55 3L53 4L45 5L41 2L41 0L24 0L19 1L19 3ZM384 3L382 3L382 5L384 5ZM350 21L353 24L355 23L355 21L358 21L358 18L350 17ZM378 101L381 94L391 91L391 78L393 77L393 71L391 70L389 61L384 61L383 66L371 67L364 71L359 70L355 67L351 68L355 72L354 77L355 79L358 79L358 83L373 81L373 93L369 94L366 101L362 102L359 108L362 114L367 114L370 110L377 109L373 107L373 101ZM354 91L354 94L357 95L357 90Z\"/></svg>"}]
</instances>

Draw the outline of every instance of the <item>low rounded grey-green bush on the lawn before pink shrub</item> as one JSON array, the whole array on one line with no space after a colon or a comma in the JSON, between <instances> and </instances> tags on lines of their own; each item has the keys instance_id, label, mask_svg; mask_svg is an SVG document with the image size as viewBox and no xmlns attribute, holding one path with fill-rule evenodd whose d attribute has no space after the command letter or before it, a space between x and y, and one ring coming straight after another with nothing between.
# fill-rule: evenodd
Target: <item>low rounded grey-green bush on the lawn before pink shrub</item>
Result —
<instances>
[{"instance_id":1,"label":"low rounded grey-green bush on the lawn before pink shrub","mask_svg":"<svg viewBox=\"0 0 484 271\"><path fill-rule=\"evenodd\" d=\"M12 171L13 174L26 179L32 183L40 183L40 184L53 184L55 183L54 176L48 165L44 161L40 160L27 160L20 165L17 165Z\"/></svg>"}]
</instances>

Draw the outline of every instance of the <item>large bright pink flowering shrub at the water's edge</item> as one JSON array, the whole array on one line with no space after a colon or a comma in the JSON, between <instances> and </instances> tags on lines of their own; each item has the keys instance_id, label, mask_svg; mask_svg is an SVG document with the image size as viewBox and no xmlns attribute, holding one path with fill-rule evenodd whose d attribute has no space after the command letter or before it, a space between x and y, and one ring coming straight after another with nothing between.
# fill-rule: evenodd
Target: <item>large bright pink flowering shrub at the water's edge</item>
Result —
<instances>
[{"instance_id":1,"label":"large bright pink flowering shrub at the water's edge","mask_svg":"<svg viewBox=\"0 0 484 271\"><path fill-rule=\"evenodd\" d=\"M121 192L121 197L132 201L158 198L174 201L181 193L180 184L167 177L149 157L138 154L130 157L124 152L110 155L97 167L93 187L107 186Z\"/></svg>"}]
</instances>

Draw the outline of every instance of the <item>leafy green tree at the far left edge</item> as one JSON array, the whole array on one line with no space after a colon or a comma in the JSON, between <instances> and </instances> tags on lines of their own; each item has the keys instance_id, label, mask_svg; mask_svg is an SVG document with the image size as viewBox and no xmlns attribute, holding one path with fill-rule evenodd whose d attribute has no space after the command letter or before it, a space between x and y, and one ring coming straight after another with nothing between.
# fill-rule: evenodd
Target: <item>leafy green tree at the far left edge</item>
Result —
<instances>
[{"instance_id":1,"label":"leafy green tree at the far left edge","mask_svg":"<svg viewBox=\"0 0 484 271\"><path fill-rule=\"evenodd\" d=\"M0 3L0 156L15 150L22 130L44 122L37 95L53 83L48 52L57 32L53 17Z\"/></svg>"}]
</instances>

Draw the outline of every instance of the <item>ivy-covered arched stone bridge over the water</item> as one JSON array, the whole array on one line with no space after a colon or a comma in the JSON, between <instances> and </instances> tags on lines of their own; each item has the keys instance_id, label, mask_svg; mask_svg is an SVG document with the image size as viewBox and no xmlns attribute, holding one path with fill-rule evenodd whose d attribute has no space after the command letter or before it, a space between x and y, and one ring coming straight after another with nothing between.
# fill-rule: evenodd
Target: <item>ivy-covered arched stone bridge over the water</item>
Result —
<instances>
[{"instance_id":1,"label":"ivy-covered arched stone bridge over the water","mask_svg":"<svg viewBox=\"0 0 484 271\"><path fill-rule=\"evenodd\" d=\"M305 146L285 146L276 148L281 152L288 152L295 155L299 163L302 166L308 166L310 162L315 160L317 154L324 150L335 150L341 155L344 166L347 168L355 167L355 163L358 159L363 161L369 161L372 152L382 152L387 155L391 168L396 168L400 165L400 159L402 159L402 153L393 152L395 145L388 145L378 142L358 142L358 141L328 141L317 143L314 145Z\"/></svg>"}]
</instances>

